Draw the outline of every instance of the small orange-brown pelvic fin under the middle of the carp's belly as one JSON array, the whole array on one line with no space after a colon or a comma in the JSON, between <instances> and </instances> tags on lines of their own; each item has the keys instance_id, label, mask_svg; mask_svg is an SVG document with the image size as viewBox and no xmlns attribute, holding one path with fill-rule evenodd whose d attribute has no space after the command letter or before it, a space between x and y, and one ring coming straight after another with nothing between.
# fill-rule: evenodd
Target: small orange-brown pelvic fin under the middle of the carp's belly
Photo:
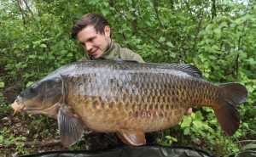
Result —
<instances>
[{"instance_id":1,"label":"small orange-brown pelvic fin under the middle of the carp's belly","mask_svg":"<svg viewBox=\"0 0 256 157\"><path fill-rule=\"evenodd\" d=\"M119 129L116 133L123 143L133 146L146 144L145 133L142 130L134 131L128 129Z\"/></svg>"}]
</instances>

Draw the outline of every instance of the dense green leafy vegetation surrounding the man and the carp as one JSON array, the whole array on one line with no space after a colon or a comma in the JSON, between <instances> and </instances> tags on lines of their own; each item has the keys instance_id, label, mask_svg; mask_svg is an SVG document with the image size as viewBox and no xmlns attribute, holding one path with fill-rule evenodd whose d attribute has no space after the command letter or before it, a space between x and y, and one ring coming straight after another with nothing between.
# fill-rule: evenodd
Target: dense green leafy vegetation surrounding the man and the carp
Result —
<instances>
[{"instance_id":1,"label":"dense green leafy vegetation surrounding the man and the carp","mask_svg":"<svg viewBox=\"0 0 256 157\"><path fill-rule=\"evenodd\" d=\"M234 136L224 136L212 109L203 108L184 116L181 125L159 132L157 142L189 146L192 143L196 149L217 155L255 149L253 0L1 0L0 115L11 115L9 104L32 82L83 56L83 49L71 39L70 32L73 23L89 12L105 16L114 41L139 53L146 62L195 64L208 81L240 82L247 87L247 103L239 108L241 126ZM0 118L5 116L8 115ZM48 118L19 116L23 121L27 121L24 116L34 120L30 129L51 133L48 124L44 125L53 122ZM26 135L15 135L13 126L0 123L0 144L30 140ZM38 136L43 135L31 137ZM15 151L31 151L23 146L18 145ZM1 149L2 154L7 152Z\"/></svg>"}]
</instances>

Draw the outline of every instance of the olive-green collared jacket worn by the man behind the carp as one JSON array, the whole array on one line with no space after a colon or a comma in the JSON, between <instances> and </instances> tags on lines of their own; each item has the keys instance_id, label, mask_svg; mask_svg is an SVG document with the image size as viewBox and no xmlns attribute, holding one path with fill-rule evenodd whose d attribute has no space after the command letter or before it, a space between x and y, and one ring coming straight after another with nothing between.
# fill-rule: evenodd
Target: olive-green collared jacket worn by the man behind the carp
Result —
<instances>
[{"instance_id":1,"label":"olive-green collared jacket worn by the man behind the carp","mask_svg":"<svg viewBox=\"0 0 256 157\"><path fill-rule=\"evenodd\" d=\"M108 51L102 54L101 59L133 59L139 63L144 63L143 58L137 53L133 53L131 49L121 48L118 43L111 42ZM95 60L90 54L85 53L84 58L80 60Z\"/></svg>"}]
</instances>

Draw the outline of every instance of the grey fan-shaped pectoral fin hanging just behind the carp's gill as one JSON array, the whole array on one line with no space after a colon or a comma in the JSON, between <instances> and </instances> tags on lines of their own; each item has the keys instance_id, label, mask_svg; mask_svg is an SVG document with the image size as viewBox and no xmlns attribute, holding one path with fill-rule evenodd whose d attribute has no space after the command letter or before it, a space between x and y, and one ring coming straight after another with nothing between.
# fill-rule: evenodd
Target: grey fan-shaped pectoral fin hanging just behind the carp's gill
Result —
<instances>
[{"instance_id":1,"label":"grey fan-shaped pectoral fin hanging just behind the carp's gill","mask_svg":"<svg viewBox=\"0 0 256 157\"><path fill-rule=\"evenodd\" d=\"M79 117L67 112L67 109L60 108L58 113L58 126L61 143L69 147L78 142L84 134L84 122Z\"/></svg>"}]
</instances>

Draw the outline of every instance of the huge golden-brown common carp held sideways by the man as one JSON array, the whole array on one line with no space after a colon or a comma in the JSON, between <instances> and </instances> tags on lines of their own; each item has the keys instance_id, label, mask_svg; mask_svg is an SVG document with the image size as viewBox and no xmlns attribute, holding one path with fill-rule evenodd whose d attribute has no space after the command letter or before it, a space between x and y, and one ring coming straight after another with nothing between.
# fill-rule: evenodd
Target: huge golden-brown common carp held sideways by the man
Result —
<instances>
[{"instance_id":1,"label":"huge golden-brown common carp held sideways by the man","mask_svg":"<svg viewBox=\"0 0 256 157\"><path fill-rule=\"evenodd\" d=\"M116 132L124 143L142 145L144 132L176 125L195 106L212 107L232 135L237 105L246 99L241 84L204 81L194 65L102 60L62 66L20 93L12 108L56 118L66 147L84 130Z\"/></svg>"}]
</instances>

